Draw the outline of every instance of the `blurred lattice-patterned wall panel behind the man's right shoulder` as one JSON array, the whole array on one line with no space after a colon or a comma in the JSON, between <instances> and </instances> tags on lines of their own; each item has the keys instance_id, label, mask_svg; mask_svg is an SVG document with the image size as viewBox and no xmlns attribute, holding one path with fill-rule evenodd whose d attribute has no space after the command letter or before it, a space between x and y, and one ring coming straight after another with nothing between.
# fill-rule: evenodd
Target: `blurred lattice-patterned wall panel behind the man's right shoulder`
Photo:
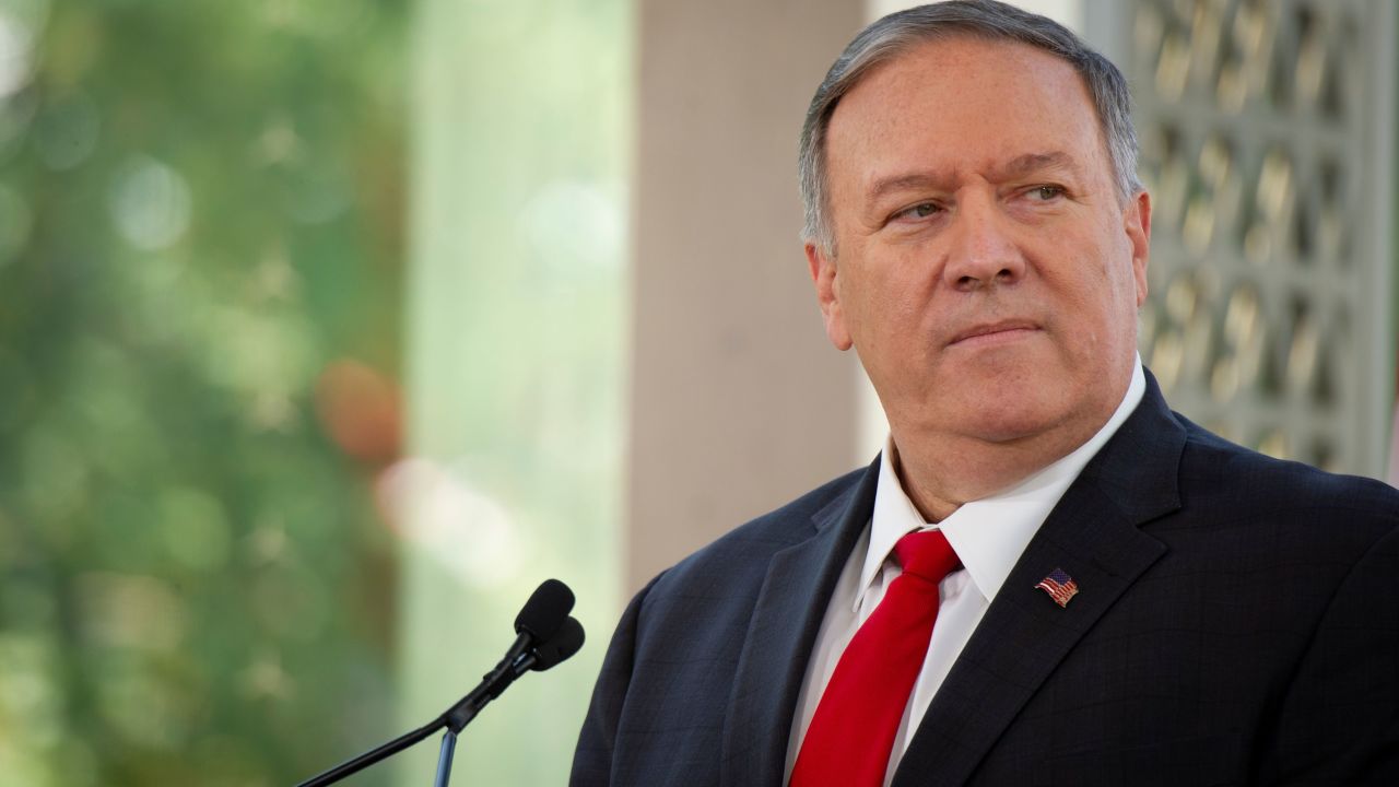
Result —
<instances>
[{"instance_id":1,"label":"blurred lattice-patterned wall panel behind the man's right shoulder","mask_svg":"<svg viewBox=\"0 0 1399 787\"><path fill-rule=\"evenodd\" d=\"M1385 6L1137 0L1125 63L1154 196L1143 360L1230 440L1368 475L1393 374Z\"/></svg>"}]
</instances>

